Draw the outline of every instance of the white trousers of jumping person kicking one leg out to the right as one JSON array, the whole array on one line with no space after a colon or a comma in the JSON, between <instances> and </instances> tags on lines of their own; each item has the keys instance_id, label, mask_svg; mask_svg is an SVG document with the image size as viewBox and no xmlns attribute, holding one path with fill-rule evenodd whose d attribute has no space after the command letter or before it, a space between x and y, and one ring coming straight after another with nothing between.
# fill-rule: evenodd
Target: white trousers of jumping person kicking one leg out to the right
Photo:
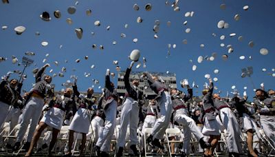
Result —
<instances>
[{"instance_id":1,"label":"white trousers of jumping person kicking one leg out to the right","mask_svg":"<svg viewBox=\"0 0 275 157\"><path fill-rule=\"evenodd\" d=\"M175 114L175 121L184 127L184 145L182 147L183 151L186 154L190 153L190 140L191 133L195 135L197 141L203 138L203 134L201 133L201 129L197 127L195 121L190 118L187 114L186 109L177 109Z\"/></svg>"}]
</instances>

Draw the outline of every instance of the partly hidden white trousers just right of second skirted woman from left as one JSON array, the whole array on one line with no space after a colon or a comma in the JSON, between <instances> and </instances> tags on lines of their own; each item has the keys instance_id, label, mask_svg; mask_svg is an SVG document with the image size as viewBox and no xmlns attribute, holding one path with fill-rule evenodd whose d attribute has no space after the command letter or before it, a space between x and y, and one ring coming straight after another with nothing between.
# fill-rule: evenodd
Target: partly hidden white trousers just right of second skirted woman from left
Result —
<instances>
[{"instance_id":1,"label":"partly hidden white trousers just right of second skirted woman from left","mask_svg":"<svg viewBox=\"0 0 275 157\"><path fill-rule=\"evenodd\" d=\"M87 138L92 138L94 139L94 143L98 141L98 137L100 136L102 129L103 129L103 119L100 116L95 116L93 120L91 121L91 129L87 134Z\"/></svg>"}]
</instances>

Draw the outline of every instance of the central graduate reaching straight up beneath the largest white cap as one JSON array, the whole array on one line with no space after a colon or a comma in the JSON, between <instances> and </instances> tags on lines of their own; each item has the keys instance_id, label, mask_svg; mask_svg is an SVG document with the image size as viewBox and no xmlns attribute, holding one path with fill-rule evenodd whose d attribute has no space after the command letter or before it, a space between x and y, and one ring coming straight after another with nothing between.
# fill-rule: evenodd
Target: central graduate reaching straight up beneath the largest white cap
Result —
<instances>
[{"instance_id":1,"label":"central graduate reaching straight up beneath the largest white cap","mask_svg":"<svg viewBox=\"0 0 275 157\"><path fill-rule=\"evenodd\" d=\"M130 84L129 76L131 73L131 69L135 62L132 61L129 68L127 68L124 75L124 85L126 88L125 101L122 105L122 112L120 116L120 134L118 136L118 153L117 156L120 157L123 154L123 149L125 146L125 138L127 127L129 125L130 128L130 149L132 149L134 156L138 155L136 145L138 143L137 139L137 125L139 121L139 117L137 114L140 109L140 105L142 101L142 90L138 89L138 85L140 81L137 79L133 79Z\"/></svg>"}]
</instances>

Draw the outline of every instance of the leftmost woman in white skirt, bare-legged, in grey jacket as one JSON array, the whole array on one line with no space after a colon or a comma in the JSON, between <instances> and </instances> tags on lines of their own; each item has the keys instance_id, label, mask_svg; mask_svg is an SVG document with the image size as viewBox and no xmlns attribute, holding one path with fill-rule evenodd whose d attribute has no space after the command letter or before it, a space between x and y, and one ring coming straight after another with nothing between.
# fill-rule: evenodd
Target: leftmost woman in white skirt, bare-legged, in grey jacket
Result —
<instances>
[{"instance_id":1,"label":"leftmost woman in white skirt, bare-legged, in grey jacket","mask_svg":"<svg viewBox=\"0 0 275 157\"><path fill-rule=\"evenodd\" d=\"M36 145L39 137L41 136L41 133L46 127L52 127L52 140L49 146L49 156L52 156L52 149L54 148L58 133L60 132L63 125L65 114L66 112L72 112L72 92L73 91L71 88L67 88L63 92L62 96L58 94L56 97L52 98L52 101L50 101L47 107L45 107L47 113L44 114L39 123L39 127L37 127L36 131L34 132L34 137L32 138L30 149L28 150L27 154L25 154L25 156L32 155L32 149L34 149L34 145Z\"/></svg>"}]
</instances>

